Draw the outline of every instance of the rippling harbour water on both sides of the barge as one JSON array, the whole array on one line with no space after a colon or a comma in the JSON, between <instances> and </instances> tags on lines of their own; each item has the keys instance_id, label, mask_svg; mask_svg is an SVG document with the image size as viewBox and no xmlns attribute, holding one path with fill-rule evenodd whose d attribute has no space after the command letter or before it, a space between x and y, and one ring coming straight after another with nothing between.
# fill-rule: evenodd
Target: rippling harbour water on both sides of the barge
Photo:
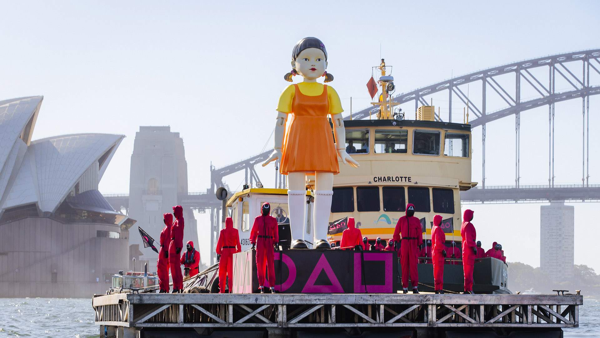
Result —
<instances>
[{"instance_id":1,"label":"rippling harbour water on both sides of the barge","mask_svg":"<svg viewBox=\"0 0 600 338\"><path fill-rule=\"evenodd\" d=\"M580 325L565 338L600 336L600 300L584 298ZM97 338L89 298L0 298L0 337Z\"/></svg>"}]
</instances>

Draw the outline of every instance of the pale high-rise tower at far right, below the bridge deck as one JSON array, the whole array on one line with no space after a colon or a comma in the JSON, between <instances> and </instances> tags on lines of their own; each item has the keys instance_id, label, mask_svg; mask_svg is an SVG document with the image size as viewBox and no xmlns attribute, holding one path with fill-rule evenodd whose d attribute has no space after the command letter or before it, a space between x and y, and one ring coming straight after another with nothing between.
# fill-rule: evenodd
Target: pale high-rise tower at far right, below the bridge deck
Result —
<instances>
[{"instance_id":1,"label":"pale high-rise tower at far right, below the bridge deck","mask_svg":"<svg viewBox=\"0 0 600 338\"><path fill-rule=\"evenodd\" d=\"M551 201L540 207L539 267L553 281L573 277L575 207Z\"/></svg>"}]
</instances>

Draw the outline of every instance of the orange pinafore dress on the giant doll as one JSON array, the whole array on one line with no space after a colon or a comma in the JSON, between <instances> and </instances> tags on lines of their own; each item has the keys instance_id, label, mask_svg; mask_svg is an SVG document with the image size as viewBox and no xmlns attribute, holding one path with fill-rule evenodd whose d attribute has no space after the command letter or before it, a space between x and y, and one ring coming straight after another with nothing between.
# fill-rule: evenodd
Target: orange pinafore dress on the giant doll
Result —
<instances>
[{"instance_id":1,"label":"orange pinafore dress on the giant doll","mask_svg":"<svg viewBox=\"0 0 600 338\"><path fill-rule=\"evenodd\" d=\"M327 85L318 96L304 95L294 85L291 117L283 138L281 174L340 173L328 114Z\"/></svg>"}]
</instances>

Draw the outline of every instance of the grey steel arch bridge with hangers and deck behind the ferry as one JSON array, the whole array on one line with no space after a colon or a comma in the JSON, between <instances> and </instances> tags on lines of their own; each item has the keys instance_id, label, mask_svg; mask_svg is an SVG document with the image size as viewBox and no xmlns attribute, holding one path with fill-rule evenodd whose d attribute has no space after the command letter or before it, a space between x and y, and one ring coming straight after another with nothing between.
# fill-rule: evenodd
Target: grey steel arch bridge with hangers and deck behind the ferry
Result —
<instances>
[{"instance_id":1,"label":"grey steel arch bridge with hangers and deck behind the ferry","mask_svg":"<svg viewBox=\"0 0 600 338\"><path fill-rule=\"evenodd\" d=\"M591 78L591 80L590 80ZM559 85L560 84L560 85ZM463 203L542 203L546 201L571 201L586 202L600 201L600 184L590 184L589 171L589 98L600 94L600 49L588 49L530 60L516 61L503 64L502 66L478 70L466 75L456 76L425 87L417 88L407 93L393 96L395 102L401 103L405 111L412 109L411 103L415 103L415 111L419 105L430 105L431 99L436 97L437 102L444 102L447 106L442 108L440 114L436 113L436 120L452 122L451 112L456 111L456 103L460 110L464 109L468 123L472 126L473 135L481 132L481 180L479 185L469 191L461 192ZM439 97L446 99L440 100ZM582 162L571 164L571 167L581 168L581 183L576 185L554 184L554 164L562 161L560 154L554 152L555 127L555 104L563 101L579 101L581 104L581 115L569 114L575 118L581 118L581 144L572 141L572 149L580 149ZM452 103L455 107L452 108ZM462 104L460 104L462 103ZM492 104L494 103L494 104ZM404 105L403 105L404 104ZM410 105L410 109L409 109ZM489 109L493 107L493 109ZM548 108L547 124L547 148L543 151L548 153L547 167L538 164L539 174L547 172L548 183L544 185L523 185L520 176L521 159L521 114L527 114L534 108ZM376 115L377 107L369 107L360 111L352 112L353 119L369 118L371 114ZM596 114L598 109L596 109ZM350 115L346 117L349 119ZM514 184L509 186L490 186L485 182L485 150L487 125L499 119L514 118ZM457 122L456 120L454 122ZM462 119L461 121L462 122ZM592 131L594 129L592 128ZM502 135L506 137L506 135ZM544 136L545 138L545 136ZM539 148L527 147L523 156L530 156L528 151L542 151ZM598 150L593 150L592 156L598 156ZM211 165L211 184L205 192L190 192L179 196L179 201L184 207L205 212L209 210L211 215L211 254L214 254L215 239L220 231L220 209L221 201L215 198L215 191L220 186L225 186L224 177L245 171L245 182L254 185L260 182L259 176L254 169L261 164L271 153L271 149L259 153L224 167ZM506 165L509 165L509 160ZM478 165L473 162L473 166ZM544 168L546 167L546 168ZM547 169L547 171L545 170ZM285 180L275 174L275 186L284 188ZM128 196L106 195L115 209L127 209ZM211 262L214 257L211 257Z\"/></svg>"}]
</instances>

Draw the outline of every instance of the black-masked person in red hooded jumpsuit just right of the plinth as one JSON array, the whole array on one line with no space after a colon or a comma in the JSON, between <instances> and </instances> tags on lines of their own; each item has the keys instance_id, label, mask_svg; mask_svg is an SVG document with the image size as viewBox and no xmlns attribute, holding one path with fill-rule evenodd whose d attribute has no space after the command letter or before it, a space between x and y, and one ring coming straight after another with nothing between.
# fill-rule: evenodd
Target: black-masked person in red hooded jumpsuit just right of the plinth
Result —
<instances>
[{"instance_id":1,"label":"black-masked person in red hooded jumpsuit just right of the plinth","mask_svg":"<svg viewBox=\"0 0 600 338\"><path fill-rule=\"evenodd\" d=\"M407 204L406 209L415 205L412 203ZM400 238L402 235L402 238ZM404 215L400 217L394 230L394 242L402 240L400 245L400 266L402 267L402 287L407 289L409 287L409 274L410 280L412 281L413 288L419 284L419 272L417 271L417 264L419 263L419 248L418 245L423 243L423 233L421 227L421 221L414 216Z\"/></svg>"}]
</instances>

